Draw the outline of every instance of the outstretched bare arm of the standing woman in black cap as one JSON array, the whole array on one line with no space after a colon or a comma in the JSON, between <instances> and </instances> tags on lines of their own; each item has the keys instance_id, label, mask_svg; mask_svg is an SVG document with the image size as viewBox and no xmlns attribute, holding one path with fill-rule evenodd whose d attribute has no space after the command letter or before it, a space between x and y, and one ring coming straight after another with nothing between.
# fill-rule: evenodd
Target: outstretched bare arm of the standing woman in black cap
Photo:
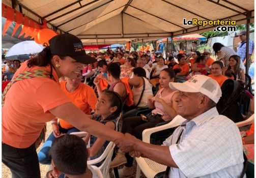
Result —
<instances>
[{"instance_id":1,"label":"outstretched bare arm of the standing woman in black cap","mask_svg":"<svg viewBox=\"0 0 256 178\"><path fill-rule=\"evenodd\" d=\"M103 124L91 120L87 114L84 114L73 103L68 102L60 106L54 107L49 112L56 117L70 123L80 131L88 132L104 140L114 141L124 136L124 134L110 129Z\"/></svg>"}]
</instances>

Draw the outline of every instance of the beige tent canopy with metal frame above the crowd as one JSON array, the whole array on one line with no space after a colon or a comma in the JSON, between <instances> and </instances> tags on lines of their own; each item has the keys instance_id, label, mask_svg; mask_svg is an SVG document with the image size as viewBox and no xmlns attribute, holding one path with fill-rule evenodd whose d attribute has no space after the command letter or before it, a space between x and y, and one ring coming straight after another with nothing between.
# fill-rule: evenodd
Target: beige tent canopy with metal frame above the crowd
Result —
<instances>
[{"instance_id":1,"label":"beige tent canopy with metal frame above the crowd","mask_svg":"<svg viewBox=\"0 0 256 178\"><path fill-rule=\"evenodd\" d=\"M12 7L11 0L2 2ZM178 37L216 27L183 25L184 18L231 18L236 24L246 23L246 17L254 20L254 1L248 0L22 0L17 4L26 16L35 21L45 18L49 27L77 35L85 45Z\"/></svg>"}]
</instances>

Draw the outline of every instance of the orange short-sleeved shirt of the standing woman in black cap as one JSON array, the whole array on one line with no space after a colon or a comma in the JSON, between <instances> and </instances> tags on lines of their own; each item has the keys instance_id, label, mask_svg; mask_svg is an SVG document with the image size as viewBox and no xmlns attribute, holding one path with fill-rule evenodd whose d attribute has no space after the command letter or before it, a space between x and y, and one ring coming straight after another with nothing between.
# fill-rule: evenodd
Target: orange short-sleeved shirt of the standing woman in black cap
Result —
<instances>
[{"instance_id":1,"label":"orange short-sleeved shirt of the standing woman in black cap","mask_svg":"<svg viewBox=\"0 0 256 178\"><path fill-rule=\"evenodd\" d=\"M28 68L27 62L24 62L14 77L37 69L50 72L50 66ZM54 80L36 77L17 81L11 86L2 107L4 143L20 149L31 146L39 137L44 124L55 118L49 110L71 102L61 90L59 77L54 69L52 75Z\"/></svg>"}]
</instances>

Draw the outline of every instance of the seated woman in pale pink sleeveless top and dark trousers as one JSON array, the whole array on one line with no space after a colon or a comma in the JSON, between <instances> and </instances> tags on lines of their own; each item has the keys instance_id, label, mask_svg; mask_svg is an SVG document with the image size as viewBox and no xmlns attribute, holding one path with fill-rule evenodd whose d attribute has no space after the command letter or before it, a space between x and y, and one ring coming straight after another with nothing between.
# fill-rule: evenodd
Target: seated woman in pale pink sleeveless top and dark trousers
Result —
<instances>
[{"instance_id":1,"label":"seated woman in pale pink sleeveless top and dark trousers","mask_svg":"<svg viewBox=\"0 0 256 178\"><path fill-rule=\"evenodd\" d=\"M179 93L169 87L169 82L173 82L175 79L175 73L171 68L163 69L159 77L160 85L162 86L161 90L158 91L155 97L153 95L148 97L148 105L150 108L154 108L154 110L147 117L153 118L149 122L143 120L141 116L128 117L123 121L122 133L130 133L136 138L142 139L142 132L145 129L155 127L160 122L170 121L177 115L175 98ZM162 116L160 117L158 114L162 114ZM124 153L119 151L110 165L110 167L117 167L127 162L124 168L119 170L120 176L131 175L133 173L133 158L129 154L125 154L125 157Z\"/></svg>"}]
</instances>

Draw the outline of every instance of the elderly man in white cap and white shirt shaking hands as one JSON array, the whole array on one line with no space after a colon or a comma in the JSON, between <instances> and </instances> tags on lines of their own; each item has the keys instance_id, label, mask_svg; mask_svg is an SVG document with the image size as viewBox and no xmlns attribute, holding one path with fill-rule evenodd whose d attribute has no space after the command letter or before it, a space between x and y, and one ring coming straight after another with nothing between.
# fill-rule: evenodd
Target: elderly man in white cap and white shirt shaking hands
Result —
<instances>
[{"instance_id":1,"label":"elderly man in white cap and white shirt shaking hands","mask_svg":"<svg viewBox=\"0 0 256 178\"><path fill-rule=\"evenodd\" d=\"M169 166L168 177L240 177L243 147L239 130L229 118L219 115L216 103L219 84L204 75L184 83L170 82L180 92L177 114L187 121L163 145L152 145L126 134L115 143L132 156L148 157Z\"/></svg>"}]
</instances>

